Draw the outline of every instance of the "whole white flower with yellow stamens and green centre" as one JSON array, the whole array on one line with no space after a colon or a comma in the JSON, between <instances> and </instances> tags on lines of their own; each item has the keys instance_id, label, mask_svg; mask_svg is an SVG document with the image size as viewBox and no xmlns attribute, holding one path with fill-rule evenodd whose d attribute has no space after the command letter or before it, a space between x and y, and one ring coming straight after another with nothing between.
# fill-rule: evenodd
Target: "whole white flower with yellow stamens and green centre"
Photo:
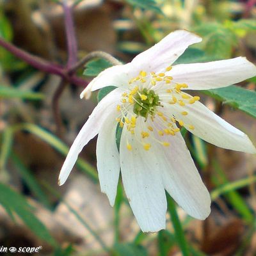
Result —
<instances>
[{"instance_id":1,"label":"whole white flower with yellow stamens and green centre","mask_svg":"<svg viewBox=\"0 0 256 256\"><path fill-rule=\"evenodd\" d=\"M175 31L131 63L107 68L81 97L104 86L117 88L102 99L77 135L60 173L62 185L84 145L99 134L97 169L100 188L111 205L121 168L125 193L144 232L165 228L164 189L189 215L204 220L211 198L189 154L179 127L218 147L255 154L248 136L228 124L186 90L207 90L239 83L256 75L246 58L174 65L202 39ZM116 126L122 129L120 152ZM178 125L178 126L177 126Z\"/></svg>"}]
</instances>

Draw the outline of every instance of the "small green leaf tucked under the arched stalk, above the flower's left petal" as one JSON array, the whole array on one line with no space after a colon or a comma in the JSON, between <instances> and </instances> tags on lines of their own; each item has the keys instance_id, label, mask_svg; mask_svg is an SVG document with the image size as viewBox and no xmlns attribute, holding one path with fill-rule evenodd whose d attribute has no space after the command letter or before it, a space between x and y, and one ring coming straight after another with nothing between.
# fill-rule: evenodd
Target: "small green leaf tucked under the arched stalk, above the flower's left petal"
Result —
<instances>
[{"instance_id":1,"label":"small green leaf tucked under the arched stalk, above the flower's left petal","mask_svg":"<svg viewBox=\"0 0 256 256\"><path fill-rule=\"evenodd\" d=\"M98 76L100 72L111 67L111 63L104 59L88 61L85 65L86 69L83 72L84 76Z\"/></svg>"}]
</instances>

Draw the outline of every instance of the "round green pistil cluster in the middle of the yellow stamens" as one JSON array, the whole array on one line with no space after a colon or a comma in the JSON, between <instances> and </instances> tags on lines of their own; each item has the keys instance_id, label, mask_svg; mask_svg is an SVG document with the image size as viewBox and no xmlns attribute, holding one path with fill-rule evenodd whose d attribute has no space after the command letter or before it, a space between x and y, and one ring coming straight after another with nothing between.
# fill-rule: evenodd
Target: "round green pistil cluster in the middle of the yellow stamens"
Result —
<instances>
[{"instance_id":1,"label":"round green pistil cluster in the middle of the yellow stamens","mask_svg":"<svg viewBox=\"0 0 256 256\"><path fill-rule=\"evenodd\" d=\"M148 115L154 115L157 106L161 106L159 96L153 90L147 90L146 88L142 92L137 92L134 99L133 112L146 119Z\"/></svg>"}]
</instances>

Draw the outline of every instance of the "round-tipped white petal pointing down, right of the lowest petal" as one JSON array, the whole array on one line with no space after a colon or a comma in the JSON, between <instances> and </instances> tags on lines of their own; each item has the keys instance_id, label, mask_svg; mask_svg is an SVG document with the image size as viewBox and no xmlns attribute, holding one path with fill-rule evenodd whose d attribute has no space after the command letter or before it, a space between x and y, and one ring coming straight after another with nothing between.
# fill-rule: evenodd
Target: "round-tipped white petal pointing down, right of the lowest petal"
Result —
<instances>
[{"instance_id":1,"label":"round-tipped white petal pointing down, right of the lowest petal","mask_svg":"<svg viewBox=\"0 0 256 256\"><path fill-rule=\"evenodd\" d=\"M154 134L159 141L170 143L169 147L158 143L152 148L159 159L164 188L184 211L204 220L211 212L211 198L180 132L175 136L159 136L156 131Z\"/></svg>"}]
</instances>

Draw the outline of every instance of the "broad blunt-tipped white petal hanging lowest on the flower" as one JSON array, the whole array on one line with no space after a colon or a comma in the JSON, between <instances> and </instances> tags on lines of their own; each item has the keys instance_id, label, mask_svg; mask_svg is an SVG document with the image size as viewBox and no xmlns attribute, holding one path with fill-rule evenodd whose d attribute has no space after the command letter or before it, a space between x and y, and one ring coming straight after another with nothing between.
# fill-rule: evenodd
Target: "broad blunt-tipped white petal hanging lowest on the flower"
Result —
<instances>
[{"instance_id":1,"label":"broad blunt-tipped white petal hanging lowest on the flower","mask_svg":"<svg viewBox=\"0 0 256 256\"><path fill-rule=\"evenodd\" d=\"M131 151L126 147L127 141L132 145ZM152 150L144 150L126 128L120 141L120 164L125 193L141 230L156 232L165 228L167 205L157 168L159 159Z\"/></svg>"}]
</instances>

